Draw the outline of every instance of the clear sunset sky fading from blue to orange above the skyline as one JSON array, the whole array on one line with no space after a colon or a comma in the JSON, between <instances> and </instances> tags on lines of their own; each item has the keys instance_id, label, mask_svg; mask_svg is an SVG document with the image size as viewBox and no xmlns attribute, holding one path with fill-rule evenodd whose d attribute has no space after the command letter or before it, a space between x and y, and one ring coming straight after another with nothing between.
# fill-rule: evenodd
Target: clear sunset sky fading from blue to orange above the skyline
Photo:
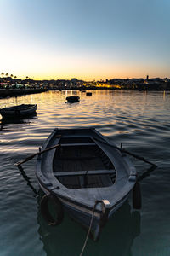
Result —
<instances>
[{"instance_id":1,"label":"clear sunset sky fading from blue to orange above the skyline","mask_svg":"<svg viewBox=\"0 0 170 256\"><path fill-rule=\"evenodd\" d=\"M0 0L0 73L170 77L170 0Z\"/></svg>"}]
</instances>

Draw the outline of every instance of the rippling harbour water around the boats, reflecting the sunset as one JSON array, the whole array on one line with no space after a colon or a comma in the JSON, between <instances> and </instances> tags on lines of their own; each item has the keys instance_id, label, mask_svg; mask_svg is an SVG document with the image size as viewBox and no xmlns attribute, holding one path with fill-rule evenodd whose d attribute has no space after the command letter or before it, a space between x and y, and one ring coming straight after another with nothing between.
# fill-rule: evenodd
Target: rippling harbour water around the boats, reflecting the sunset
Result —
<instances>
[{"instance_id":1,"label":"rippling harbour water around the boats, reflecting the sunset","mask_svg":"<svg viewBox=\"0 0 170 256\"><path fill-rule=\"evenodd\" d=\"M80 96L65 103L66 96ZM106 224L98 242L88 240L83 255L170 255L170 93L133 90L50 91L1 99L0 108L37 103L32 119L2 123L0 131L0 256L79 255L86 231L65 214L62 224L49 227L39 212L39 200L14 163L37 148L55 127L94 126L111 142L144 156L158 166L141 181L142 210L132 199ZM148 166L133 160L139 175ZM35 160L24 166L38 190Z\"/></svg>"}]
</instances>

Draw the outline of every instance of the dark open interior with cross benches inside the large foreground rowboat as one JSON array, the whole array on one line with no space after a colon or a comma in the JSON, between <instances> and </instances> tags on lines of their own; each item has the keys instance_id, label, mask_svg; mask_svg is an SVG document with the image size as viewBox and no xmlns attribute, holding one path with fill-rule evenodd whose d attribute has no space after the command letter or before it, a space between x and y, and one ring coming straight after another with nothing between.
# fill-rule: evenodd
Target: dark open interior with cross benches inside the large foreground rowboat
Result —
<instances>
[{"instance_id":1,"label":"dark open interior with cross benches inside the large foreground rowboat","mask_svg":"<svg viewBox=\"0 0 170 256\"><path fill-rule=\"evenodd\" d=\"M109 187L116 172L111 160L93 140L60 140L53 161L54 176L69 189Z\"/></svg>"}]
</instances>

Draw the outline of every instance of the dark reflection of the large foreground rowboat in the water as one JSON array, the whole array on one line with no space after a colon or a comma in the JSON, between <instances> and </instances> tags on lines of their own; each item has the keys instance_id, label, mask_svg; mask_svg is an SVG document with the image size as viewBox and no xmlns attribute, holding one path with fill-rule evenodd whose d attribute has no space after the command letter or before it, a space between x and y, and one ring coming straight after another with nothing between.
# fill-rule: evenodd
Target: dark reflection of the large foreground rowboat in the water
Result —
<instances>
[{"instance_id":1,"label":"dark reflection of the large foreground rowboat in the water","mask_svg":"<svg viewBox=\"0 0 170 256\"><path fill-rule=\"evenodd\" d=\"M39 195L43 192L40 190ZM38 206L42 196L38 197ZM43 243L43 250L47 256L54 255L79 255L86 238L87 232L82 227L71 221L65 214L64 221L58 226L49 226L42 218L38 207L37 222L39 224L38 233ZM131 207L126 201L118 209L110 222L105 225L100 240L97 242L88 238L88 244L84 255L102 255L103 247L106 248L106 255L131 255L131 248L135 237L140 233L140 212L131 211Z\"/></svg>"}]
</instances>

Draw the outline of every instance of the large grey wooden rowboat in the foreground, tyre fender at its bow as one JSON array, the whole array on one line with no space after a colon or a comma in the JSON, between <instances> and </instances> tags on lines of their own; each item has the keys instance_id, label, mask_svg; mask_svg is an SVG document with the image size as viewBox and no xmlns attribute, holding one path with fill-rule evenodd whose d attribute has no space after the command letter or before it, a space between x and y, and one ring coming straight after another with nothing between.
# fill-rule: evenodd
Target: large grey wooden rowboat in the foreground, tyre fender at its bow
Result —
<instances>
[{"instance_id":1,"label":"large grey wooden rowboat in the foreground, tyre fender at its bow","mask_svg":"<svg viewBox=\"0 0 170 256\"><path fill-rule=\"evenodd\" d=\"M59 224L67 211L97 240L136 185L132 162L94 128L54 129L42 150L36 174L45 193L43 217L48 224ZM58 207L56 220L48 211L48 200Z\"/></svg>"}]
</instances>

